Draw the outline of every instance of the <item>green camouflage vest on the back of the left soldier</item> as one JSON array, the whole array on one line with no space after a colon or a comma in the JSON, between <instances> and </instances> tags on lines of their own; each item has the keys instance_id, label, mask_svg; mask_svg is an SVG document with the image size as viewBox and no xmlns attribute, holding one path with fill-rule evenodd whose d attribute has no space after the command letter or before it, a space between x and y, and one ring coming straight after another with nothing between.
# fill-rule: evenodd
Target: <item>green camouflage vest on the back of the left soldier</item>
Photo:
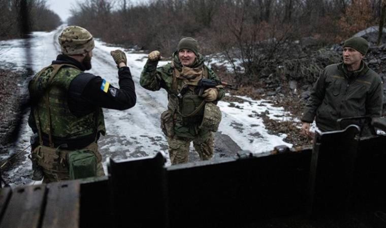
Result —
<instances>
[{"instance_id":1,"label":"green camouflage vest on the back of the left soldier","mask_svg":"<svg viewBox=\"0 0 386 228\"><path fill-rule=\"evenodd\" d=\"M81 72L71 64L55 64L42 69L30 82L31 99L37 101L33 111L41 145L44 134L49 137L50 147L59 146L56 138L70 143L89 137L94 137L96 141L98 132L105 134L102 108L83 117L74 116L69 109L67 96L70 83Z\"/></svg>"}]
</instances>

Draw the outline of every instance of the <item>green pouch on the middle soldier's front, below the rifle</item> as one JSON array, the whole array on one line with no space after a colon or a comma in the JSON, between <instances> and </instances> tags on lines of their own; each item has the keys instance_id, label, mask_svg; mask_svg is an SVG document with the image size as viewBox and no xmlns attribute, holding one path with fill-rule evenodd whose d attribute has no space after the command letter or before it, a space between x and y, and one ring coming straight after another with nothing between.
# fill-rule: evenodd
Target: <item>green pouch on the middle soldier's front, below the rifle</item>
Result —
<instances>
[{"instance_id":1,"label":"green pouch on the middle soldier's front, below the rifle","mask_svg":"<svg viewBox=\"0 0 386 228\"><path fill-rule=\"evenodd\" d=\"M181 116L184 124L199 124L204 115L205 101L198 95L185 95L181 103Z\"/></svg>"}]
</instances>

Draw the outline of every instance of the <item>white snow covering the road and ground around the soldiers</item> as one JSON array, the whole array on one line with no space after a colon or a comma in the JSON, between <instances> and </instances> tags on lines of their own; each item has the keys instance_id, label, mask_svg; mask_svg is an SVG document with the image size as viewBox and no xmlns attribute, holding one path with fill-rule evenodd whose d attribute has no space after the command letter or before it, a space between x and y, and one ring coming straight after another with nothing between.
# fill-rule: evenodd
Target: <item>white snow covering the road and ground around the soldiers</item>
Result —
<instances>
[{"instance_id":1,"label":"white snow covering the road and ground around the soldiers","mask_svg":"<svg viewBox=\"0 0 386 228\"><path fill-rule=\"evenodd\" d=\"M26 53L31 55L31 68L36 73L49 65L59 54L57 36L63 26L52 32L34 32L30 38L30 48L25 40L10 40L0 42L0 66L12 69L23 69L29 62ZM93 50L91 73L100 75L112 85L118 86L116 64L110 56L110 51L119 49L100 40L95 41ZM152 92L139 85L139 77L147 60L147 54L125 50L127 64L130 66L133 80L136 84L137 104L135 107L124 110L104 109L107 135L99 140L100 150L104 157L104 167L109 158L128 159L154 156L163 151L167 156L167 142L159 128L159 116L167 108L167 93L164 90ZM159 62L159 66L166 64ZM24 85L26 90L26 84ZM239 97L245 102L231 105L229 102L218 103L222 111L222 121L219 131L229 135L243 150L253 153L262 153L273 149L276 145L287 145L285 135L271 135L264 126L263 120L256 114L269 111L268 116L277 121L291 120L287 112L281 107L275 107L269 100L253 100L248 97ZM29 145L31 131L27 126L27 111L23 118L19 138L14 146L9 148L8 155L1 155L4 161L17 151ZM289 118L289 119L288 119ZM295 120L296 121L296 120ZM192 147L191 147L192 149ZM237 151L235 151L237 153ZM31 164L27 155L24 156L22 166L14 167L9 175L18 177L15 184L30 182ZM170 165L168 160L167 165Z\"/></svg>"}]
</instances>

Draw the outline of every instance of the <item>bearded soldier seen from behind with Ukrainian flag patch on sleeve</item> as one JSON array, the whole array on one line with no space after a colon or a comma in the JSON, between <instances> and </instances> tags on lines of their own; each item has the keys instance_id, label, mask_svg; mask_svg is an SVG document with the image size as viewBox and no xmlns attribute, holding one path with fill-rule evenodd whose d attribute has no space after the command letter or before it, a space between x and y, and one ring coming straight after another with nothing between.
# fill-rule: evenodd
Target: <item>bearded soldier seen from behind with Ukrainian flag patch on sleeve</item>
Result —
<instances>
[{"instance_id":1,"label":"bearded soldier seen from behind with Ukrainian flag patch on sleeve","mask_svg":"<svg viewBox=\"0 0 386 228\"><path fill-rule=\"evenodd\" d=\"M84 72L91 69L94 40L84 28L69 26L59 38L62 54L30 81L28 124L37 140L32 160L44 182L103 176L98 151L105 135L102 108L124 110L136 104L134 82L120 51L111 55L118 67L119 87ZM36 177L36 176L35 176Z\"/></svg>"}]
</instances>

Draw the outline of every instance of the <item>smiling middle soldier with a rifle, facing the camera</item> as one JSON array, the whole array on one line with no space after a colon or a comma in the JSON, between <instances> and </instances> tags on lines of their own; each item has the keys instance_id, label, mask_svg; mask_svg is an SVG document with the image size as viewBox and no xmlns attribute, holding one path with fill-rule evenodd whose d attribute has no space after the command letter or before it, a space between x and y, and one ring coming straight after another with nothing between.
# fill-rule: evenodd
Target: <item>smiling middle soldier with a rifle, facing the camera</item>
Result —
<instances>
[{"instance_id":1,"label":"smiling middle soldier with a rifle, facing the camera","mask_svg":"<svg viewBox=\"0 0 386 228\"><path fill-rule=\"evenodd\" d=\"M217 75L204 64L199 53L198 43L191 37L182 39L177 51L173 53L172 63L157 67L161 55L158 51L149 54L141 73L143 88L168 92L168 110L161 115L161 128L168 139L169 156L172 164L188 162L190 142L201 160L213 157L213 129L203 127L203 118L218 109L216 104L224 96L222 86L209 88L198 96L197 85L201 79L219 82ZM205 105L205 106L204 106ZM204 115L204 112L206 113ZM221 113L213 115L212 120L220 120ZM215 131L215 130L214 130Z\"/></svg>"}]
</instances>

